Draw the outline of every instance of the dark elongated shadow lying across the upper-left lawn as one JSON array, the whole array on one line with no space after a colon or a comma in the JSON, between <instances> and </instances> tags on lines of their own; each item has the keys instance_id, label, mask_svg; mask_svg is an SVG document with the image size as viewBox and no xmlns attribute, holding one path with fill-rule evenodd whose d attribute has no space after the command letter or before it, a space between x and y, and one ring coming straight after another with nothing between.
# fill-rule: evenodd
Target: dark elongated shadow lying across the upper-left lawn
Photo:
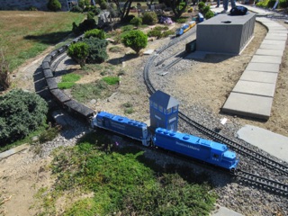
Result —
<instances>
[{"instance_id":1,"label":"dark elongated shadow lying across the upper-left lawn","mask_svg":"<svg viewBox=\"0 0 288 216\"><path fill-rule=\"evenodd\" d=\"M43 44L55 45L59 41L63 40L63 38L66 38L70 33L71 31L58 31L48 34L26 35L23 38L25 40L34 40Z\"/></svg>"}]
</instances>

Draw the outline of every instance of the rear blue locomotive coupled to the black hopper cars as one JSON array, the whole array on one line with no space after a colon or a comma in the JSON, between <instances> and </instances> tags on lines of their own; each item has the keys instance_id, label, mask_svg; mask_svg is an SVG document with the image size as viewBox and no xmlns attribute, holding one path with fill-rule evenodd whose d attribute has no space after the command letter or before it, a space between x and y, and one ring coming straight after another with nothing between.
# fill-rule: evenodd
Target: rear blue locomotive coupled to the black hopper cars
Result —
<instances>
[{"instance_id":1,"label":"rear blue locomotive coupled to the black hopper cars","mask_svg":"<svg viewBox=\"0 0 288 216\"><path fill-rule=\"evenodd\" d=\"M127 117L109 112L98 112L91 121L92 128L103 128L119 133L131 139L137 139L144 146L150 144L151 135L146 123L130 120Z\"/></svg>"}]
</instances>

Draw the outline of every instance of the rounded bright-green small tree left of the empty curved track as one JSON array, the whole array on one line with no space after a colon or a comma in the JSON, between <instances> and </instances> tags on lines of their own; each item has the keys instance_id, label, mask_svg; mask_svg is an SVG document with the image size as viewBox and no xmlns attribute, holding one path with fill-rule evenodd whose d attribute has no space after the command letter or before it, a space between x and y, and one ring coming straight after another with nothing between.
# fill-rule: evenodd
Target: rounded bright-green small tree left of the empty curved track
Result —
<instances>
[{"instance_id":1,"label":"rounded bright-green small tree left of the empty curved track","mask_svg":"<svg viewBox=\"0 0 288 216\"><path fill-rule=\"evenodd\" d=\"M147 47L148 36L142 31L133 30L125 35L122 41L126 47L130 47L139 54L140 49Z\"/></svg>"}]
</instances>

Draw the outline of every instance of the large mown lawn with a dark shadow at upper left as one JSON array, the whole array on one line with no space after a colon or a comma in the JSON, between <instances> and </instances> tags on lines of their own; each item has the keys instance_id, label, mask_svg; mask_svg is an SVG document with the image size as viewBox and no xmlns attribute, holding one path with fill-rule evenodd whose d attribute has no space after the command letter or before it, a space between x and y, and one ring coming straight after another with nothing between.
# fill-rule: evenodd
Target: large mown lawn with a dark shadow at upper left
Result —
<instances>
[{"instance_id":1,"label":"large mown lawn with a dark shadow at upper left","mask_svg":"<svg viewBox=\"0 0 288 216\"><path fill-rule=\"evenodd\" d=\"M72 32L72 23L81 23L85 14L34 11L1 11L0 48L10 69L21 66Z\"/></svg>"}]
</instances>

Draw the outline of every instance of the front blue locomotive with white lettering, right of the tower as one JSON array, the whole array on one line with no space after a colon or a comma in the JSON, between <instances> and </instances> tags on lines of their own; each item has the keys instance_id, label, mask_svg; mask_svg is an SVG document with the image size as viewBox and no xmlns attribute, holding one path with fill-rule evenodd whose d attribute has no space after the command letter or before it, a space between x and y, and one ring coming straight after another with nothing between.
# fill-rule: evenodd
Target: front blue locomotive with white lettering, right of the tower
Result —
<instances>
[{"instance_id":1,"label":"front blue locomotive with white lettering, right of the tower","mask_svg":"<svg viewBox=\"0 0 288 216\"><path fill-rule=\"evenodd\" d=\"M180 132L157 128L153 138L156 147L202 160L233 171L238 166L236 154L226 145Z\"/></svg>"}]
</instances>

